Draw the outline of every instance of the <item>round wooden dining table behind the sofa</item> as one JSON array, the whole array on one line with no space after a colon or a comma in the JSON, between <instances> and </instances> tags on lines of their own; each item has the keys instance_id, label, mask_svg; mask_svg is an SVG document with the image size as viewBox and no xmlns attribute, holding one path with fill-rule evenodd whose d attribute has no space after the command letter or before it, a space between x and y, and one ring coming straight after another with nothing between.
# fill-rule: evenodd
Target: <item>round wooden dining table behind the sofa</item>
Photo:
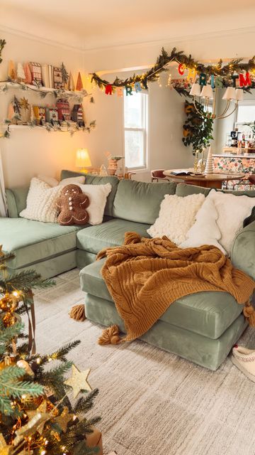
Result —
<instances>
[{"instance_id":1,"label":"round wooden dining table behind the sofa","mask_svg":"<svg viewBox=\"0 0 255 455\"><path fill-rule=\"evenodd\" d=\"M191 172L192 175L176 175L176 172ZM174 173L173 173L174 172ZM234 173L208 173L207 175L195 174L193 168L169 169L164 171L164 176L173 178L174 180L183 181L190 185L203 186L205 188L222 188L222 182L242 180L245 177L244 172Z\"/></svg>"}]
</instances>

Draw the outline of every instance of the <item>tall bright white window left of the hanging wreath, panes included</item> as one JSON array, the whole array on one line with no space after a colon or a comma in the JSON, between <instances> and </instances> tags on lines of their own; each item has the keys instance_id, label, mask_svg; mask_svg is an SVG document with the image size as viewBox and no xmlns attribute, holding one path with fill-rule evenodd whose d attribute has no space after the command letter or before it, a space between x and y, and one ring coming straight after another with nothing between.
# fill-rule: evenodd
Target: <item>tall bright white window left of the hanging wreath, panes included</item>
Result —
<instances>
[{"instance_id":1,"label":"tall bright white window left of the hanging wreath, panes included","mask_svg":"<svg viewBox=\"0 0 255 455\"><path fill-rule=\"evenodd\" d=\"M147 120L147 93L124 96L125 166L129 169L147 167Z\"/></svg>"}]
</instances>

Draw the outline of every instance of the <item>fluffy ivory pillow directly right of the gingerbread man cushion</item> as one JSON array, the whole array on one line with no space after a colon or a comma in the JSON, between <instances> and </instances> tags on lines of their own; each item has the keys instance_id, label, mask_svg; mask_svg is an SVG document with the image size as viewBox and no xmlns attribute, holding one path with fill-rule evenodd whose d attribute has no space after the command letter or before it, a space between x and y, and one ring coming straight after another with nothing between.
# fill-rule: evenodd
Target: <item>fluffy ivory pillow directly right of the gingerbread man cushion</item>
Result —
<instances>
[{"instance_id":1,"label":"fluffy ivory pillow directly right of the gingerbread man cushion","mask_svg":"<svg viewBox=\"0 0 255 455\"><path fill-rule=\"evenodd\" d=\"M103 213L106 207L107 196L111 193L111 183L106 185L80 185L82 192L89 196L89 224L100 225L103 221Z\"/></svg>"}]
</instances>

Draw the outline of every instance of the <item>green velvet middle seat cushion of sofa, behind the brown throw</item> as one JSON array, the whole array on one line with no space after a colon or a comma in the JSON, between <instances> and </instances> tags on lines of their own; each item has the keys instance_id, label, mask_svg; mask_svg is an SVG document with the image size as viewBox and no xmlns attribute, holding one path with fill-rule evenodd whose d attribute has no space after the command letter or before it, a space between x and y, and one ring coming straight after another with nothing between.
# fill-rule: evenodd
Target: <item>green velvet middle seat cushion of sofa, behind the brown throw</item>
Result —
<instances>
[{"instance_id":1,"label":"green velvet middle seat cushion of sofa, behind the brown throw","mask_svg":"<svg viewBox=\"0 0 255 455\"><path fill-rule=\"evenodd\" d=\"M149 225L132 223L127 220L110 220L102 225L90 226L77 232L77 248L97 254L106 247L115 247L124 242L125 232L135 231L149 237Z\"/></svg>"}]
</instances>

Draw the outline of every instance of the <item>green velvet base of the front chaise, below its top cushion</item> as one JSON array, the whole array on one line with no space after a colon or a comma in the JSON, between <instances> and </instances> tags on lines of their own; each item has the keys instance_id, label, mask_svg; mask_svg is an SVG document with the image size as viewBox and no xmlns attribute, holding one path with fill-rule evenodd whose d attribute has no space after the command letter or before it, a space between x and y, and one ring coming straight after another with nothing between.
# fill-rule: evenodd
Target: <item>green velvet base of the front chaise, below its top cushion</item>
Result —
<instances>
[{"instance_id":1,"label":"green velvet base of the front chaise, below its top cushion","mask_svg":"<svg viewBox=\"0 0 255 455\"><path fill-rule=\"evenodd\" d=\"M125 331L123 321L120 319L113 302L86 294L85 306L87 319L103 324L103 326L118 324L120 329ZM222 333L222 336L213 340L199 333L159 320L141 339L205 368L217 370L234 343L237 343L246 326L246 320L240 314L231 326Z\"/></svg>"}]
</instances>

